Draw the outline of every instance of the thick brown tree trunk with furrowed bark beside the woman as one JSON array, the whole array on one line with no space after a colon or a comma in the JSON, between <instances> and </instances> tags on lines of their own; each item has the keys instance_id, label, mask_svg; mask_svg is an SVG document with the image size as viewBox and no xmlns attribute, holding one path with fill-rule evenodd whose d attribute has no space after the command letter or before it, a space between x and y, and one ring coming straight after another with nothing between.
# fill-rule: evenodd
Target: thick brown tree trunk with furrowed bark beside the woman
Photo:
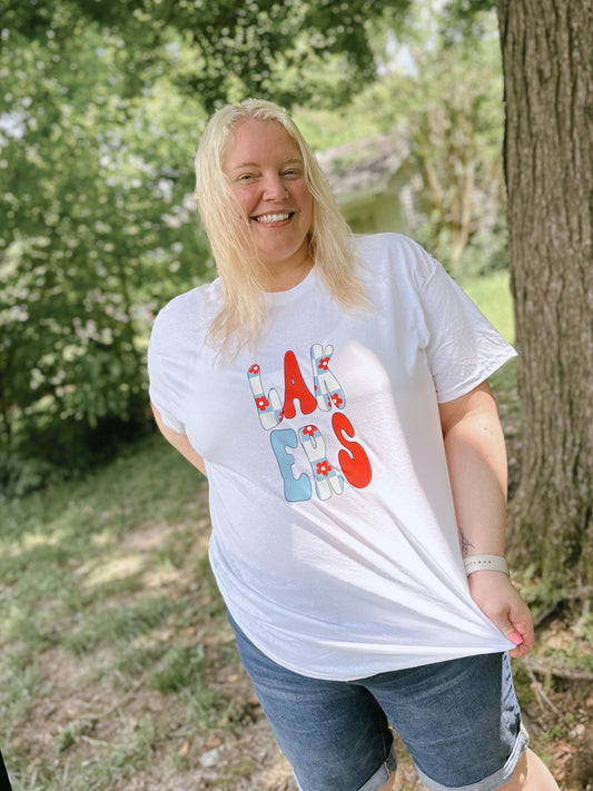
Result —
<instances>
[{"instance_id":1,"label":"thick brown tree trunk with furrowed bark beside the woman","mask_svg":"<svg viewBox=\"0 0 593 791\"><path fill-rule=\"evenodd\" d=\"M593 581L593 0L497 0L522 479L510 551Z\"/></svg>"}]
</instances>

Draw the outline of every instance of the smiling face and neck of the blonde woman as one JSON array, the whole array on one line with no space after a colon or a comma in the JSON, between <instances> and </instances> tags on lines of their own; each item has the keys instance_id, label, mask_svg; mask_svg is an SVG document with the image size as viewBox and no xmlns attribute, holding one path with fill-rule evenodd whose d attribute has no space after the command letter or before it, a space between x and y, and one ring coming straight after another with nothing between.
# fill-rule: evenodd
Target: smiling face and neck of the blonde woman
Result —
<instances>
[{"instance_id":1,"label":"smiling face and neck of the blonde woman","mask_svg":"<svg viewBox=\"0 0 593 791\"><path fill-rule=\"evenodd\" d=\"M236 129L223 170L249 218L269 289L293 287L312 264L313 198L297 144L277 121L250 119Z\"/></svg>"}]
</instances>

